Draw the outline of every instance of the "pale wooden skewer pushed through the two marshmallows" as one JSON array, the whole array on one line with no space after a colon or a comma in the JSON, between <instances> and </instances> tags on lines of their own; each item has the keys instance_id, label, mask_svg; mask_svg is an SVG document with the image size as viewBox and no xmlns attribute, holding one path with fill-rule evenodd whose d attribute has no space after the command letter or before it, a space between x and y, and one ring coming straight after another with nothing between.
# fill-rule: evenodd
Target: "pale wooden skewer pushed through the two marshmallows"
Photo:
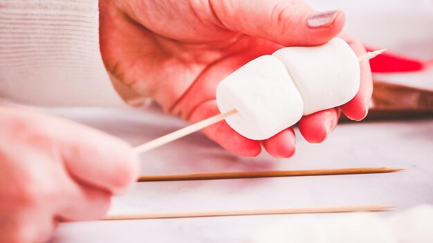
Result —
<instances>
[{"instance_id":1,"label":"pale wooden skewer pushed through the two marshmallows","mask_svg":"<svg viewBox=\"0 0 433 243\"><path fill-rule=\"evenodd\" d=\"M367 52L365 55L362 55L358 57L358 60L360 62L367 61L369 59L372 59L376 57L377 55L380 55L380 53L384 52L386 49L383 50L375 50L373 52ZM154 148L158 148L159 146L163 146L164 144L168 144L169 142L173 142L176 139L179 139L181 137L185 137L186 135L190 135L191 133L195 133L198 130L201 130L207 126L210 126L212 124L215 124L216 122L221 122L225 117L229 117L230 115L234 115L237 113L237 110L229 110L228 112L221 113L219 115L215 115L213 117L210 117L208 119L204 119L201 122L197 122L195 124L192 124L190 126L187 126L185 128L181 128L180 130L176 130L173 133L169 133L163 137L158 137L157 139L151 140L145 144L141 144L139 146L136 146L134 150L136 153L145 153L148 150L152 150Z\"/></svg>"}]
</instances>

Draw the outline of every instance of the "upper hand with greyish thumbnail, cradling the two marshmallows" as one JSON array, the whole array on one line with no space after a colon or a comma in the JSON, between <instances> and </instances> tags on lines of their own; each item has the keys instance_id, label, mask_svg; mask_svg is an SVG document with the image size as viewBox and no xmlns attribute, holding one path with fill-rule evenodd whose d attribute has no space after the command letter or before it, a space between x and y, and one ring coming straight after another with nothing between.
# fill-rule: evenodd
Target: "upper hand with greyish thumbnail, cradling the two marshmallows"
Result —
<instances>
[{"instance_id":1,"label":"upper hand with greyish thumbnail, cradling the two marshmallows","mask_svg":"<svg viewBox=\"0 0 433 243\"><path fill-rule=\"evenodd\" d=\"M190 122L216 115L216 86L248 61L284 46L316 46L342 30L344 14L315 12L303 1L143 1L100 0L102 59L116 86L127 96L154 98L165 112ZM341 36L357 55L362 45ZM339 108L303 117L299 128L308 142L322 142L338 122L367 114L372 81L361 64L358 95ZM293 128L266 141L242 137L225 122L203 129L215 142L243 156L261 144L274 157L295 152Z\"/></svg>"}]
</instances>

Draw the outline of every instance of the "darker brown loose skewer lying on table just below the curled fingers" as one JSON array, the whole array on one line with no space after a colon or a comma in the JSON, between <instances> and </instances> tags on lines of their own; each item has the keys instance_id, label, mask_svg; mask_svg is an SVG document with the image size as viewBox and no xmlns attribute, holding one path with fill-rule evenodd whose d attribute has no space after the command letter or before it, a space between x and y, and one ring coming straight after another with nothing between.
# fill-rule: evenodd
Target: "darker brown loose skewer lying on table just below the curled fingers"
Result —
<instances>
[{"instance_id":1,"label":"darker brown loose skewer lying on table just below the curled fingers","mask_svg":"<svg viewBox=\"0 0 433 243\"><path fill-rule=\"evenodd\" d=\"M172 181L191 181L203 179L244 179L244 178L263 178L263 177L294 177L294 176L313 176L313 175L354 175L371 173L391 173L403 171L404 168L370 167L370 168L338 168L304 171L246 171L228 173L205 173L189 175L141 175L137 182L172 182Z\"/></svg>"}]
</instances>

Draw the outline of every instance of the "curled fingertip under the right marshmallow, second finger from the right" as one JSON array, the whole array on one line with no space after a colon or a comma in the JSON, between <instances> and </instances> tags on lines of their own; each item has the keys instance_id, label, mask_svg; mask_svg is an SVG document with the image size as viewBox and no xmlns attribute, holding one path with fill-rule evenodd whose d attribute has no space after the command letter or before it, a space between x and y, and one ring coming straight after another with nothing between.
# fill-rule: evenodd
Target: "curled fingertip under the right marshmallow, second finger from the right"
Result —
<instances>
[{"instance_id":1,"label":"curled fingertip under the right marshmallow, second finger from the right","mask_svg":"<svg viewBox=\"0 0 433 243\"><path fill-rule=\"evenodd\" d=\"M307 142L320 143L335 129L339 118L340 109L331 108L302 117L298 125Z\"/></svg>"}]
</instances>

